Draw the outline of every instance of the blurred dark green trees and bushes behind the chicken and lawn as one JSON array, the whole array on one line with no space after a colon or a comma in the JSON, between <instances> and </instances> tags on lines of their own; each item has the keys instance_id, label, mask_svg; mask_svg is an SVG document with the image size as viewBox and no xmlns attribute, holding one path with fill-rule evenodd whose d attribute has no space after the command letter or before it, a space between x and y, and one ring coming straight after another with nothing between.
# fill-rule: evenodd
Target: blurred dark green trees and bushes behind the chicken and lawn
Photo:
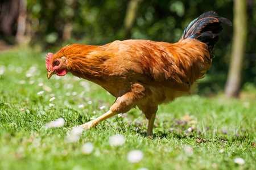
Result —
<instances>
[{"instance_id":1,"label":"blurred dark green trees and bushes behind the chicken and lawn","mask_svg":"<svg viewBox=\"0 0 256 170\"><path fill-rule=\"evenodd\" d=\"M177 42L193 19L213 10L233 27L223 25L200 93L239 97L241 89L255 91L255 6L253 0L0 0L0 53L56 53L67 44L125 39Z\"/></svg>"}]
</instances>

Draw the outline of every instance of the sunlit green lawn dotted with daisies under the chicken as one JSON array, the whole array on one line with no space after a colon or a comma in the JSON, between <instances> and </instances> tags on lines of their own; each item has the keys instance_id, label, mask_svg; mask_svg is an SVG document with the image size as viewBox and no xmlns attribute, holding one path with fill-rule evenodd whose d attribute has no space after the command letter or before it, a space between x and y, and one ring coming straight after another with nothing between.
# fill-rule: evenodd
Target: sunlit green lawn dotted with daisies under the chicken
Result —
<instances>
[{"instance_id":1,"label":"sunlit green lawn dotted with daisies under the chicken","mask_svg":"<svg viewBox=\"0 0 256 170\"><path fill-rule=\"evenodd\" d=\"M108 111L114 97L70 74L48 80L45 54L0 54L0 169L256 169L255 88L240 100L194 95L161 105L153 137L144 136L146 118L133 109L71 143L69 130L46 128L47 122L63 117L64 128L83 124ZM125 137L122 146L110 146L115 134ZM92 154L82 153L86 142L93 143ZM141 162L127 161L132 150L143 152Z\"/></svg>"}]
</instances>

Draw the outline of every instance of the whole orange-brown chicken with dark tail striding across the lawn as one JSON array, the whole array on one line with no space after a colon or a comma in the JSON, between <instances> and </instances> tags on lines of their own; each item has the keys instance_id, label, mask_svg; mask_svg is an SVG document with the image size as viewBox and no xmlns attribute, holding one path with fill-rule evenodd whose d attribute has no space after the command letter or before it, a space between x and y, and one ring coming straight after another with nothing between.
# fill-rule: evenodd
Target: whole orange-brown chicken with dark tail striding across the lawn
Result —
<instances>
[{"instance_id":1,"label":"whole orange-brown chicken with dark tail striding across the lawn","mask_svg":"<svg viewBox=\"0 0 256 170\"><path fill-rule=\"evenodd\" d=\"M152 135L158 105L197 92L196 80L210 69L212 50L230 20L209 11L193 20L179 42L114 41L102 46L72 44L46 58L47 77L68 72L99 84L116 97L109 111L80 125L90 129L118 113L138 107Z\"/></svg>"}]
</instances>

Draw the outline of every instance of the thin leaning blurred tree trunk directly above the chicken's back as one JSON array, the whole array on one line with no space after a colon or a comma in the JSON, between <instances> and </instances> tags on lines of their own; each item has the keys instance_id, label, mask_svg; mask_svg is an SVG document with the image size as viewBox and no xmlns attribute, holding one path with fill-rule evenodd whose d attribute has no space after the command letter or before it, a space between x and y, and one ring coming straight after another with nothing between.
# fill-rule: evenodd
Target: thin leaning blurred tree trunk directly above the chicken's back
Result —
<instances>
[{"instance_id":1,"label":"thin leaning blurred tree trunk directly above the chicken's back","mask_svg":"<svg viewBox=\"0 0 256 170\"><path fill-rule=\"evenodd\" d=\"M125 15L125 39L130 39L131 37L131 28L133 28L133 24L135 22L139 5L141 5L141 2L143 0L130 0L126 15Z\"/></svg>"}]
</instances>

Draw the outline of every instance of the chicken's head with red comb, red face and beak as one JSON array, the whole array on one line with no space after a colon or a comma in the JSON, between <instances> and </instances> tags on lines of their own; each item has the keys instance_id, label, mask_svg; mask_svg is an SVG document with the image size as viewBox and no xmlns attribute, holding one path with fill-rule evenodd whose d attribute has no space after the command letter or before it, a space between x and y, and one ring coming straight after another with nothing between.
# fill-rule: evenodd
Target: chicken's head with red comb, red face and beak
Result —
<instances>
[{"instance_id":1,"label":"chicken's head with red comb, red face and beak","mask_svg":"<svg viewBox=\"0 0 256 170\"><path fill-rule=\"evenodd\" d=\"M53 74L63 76L67 74L67 59L60 53L46 55L46 69L48 70L47 78L51 78Z\"/></svg>"}]
</instances>

